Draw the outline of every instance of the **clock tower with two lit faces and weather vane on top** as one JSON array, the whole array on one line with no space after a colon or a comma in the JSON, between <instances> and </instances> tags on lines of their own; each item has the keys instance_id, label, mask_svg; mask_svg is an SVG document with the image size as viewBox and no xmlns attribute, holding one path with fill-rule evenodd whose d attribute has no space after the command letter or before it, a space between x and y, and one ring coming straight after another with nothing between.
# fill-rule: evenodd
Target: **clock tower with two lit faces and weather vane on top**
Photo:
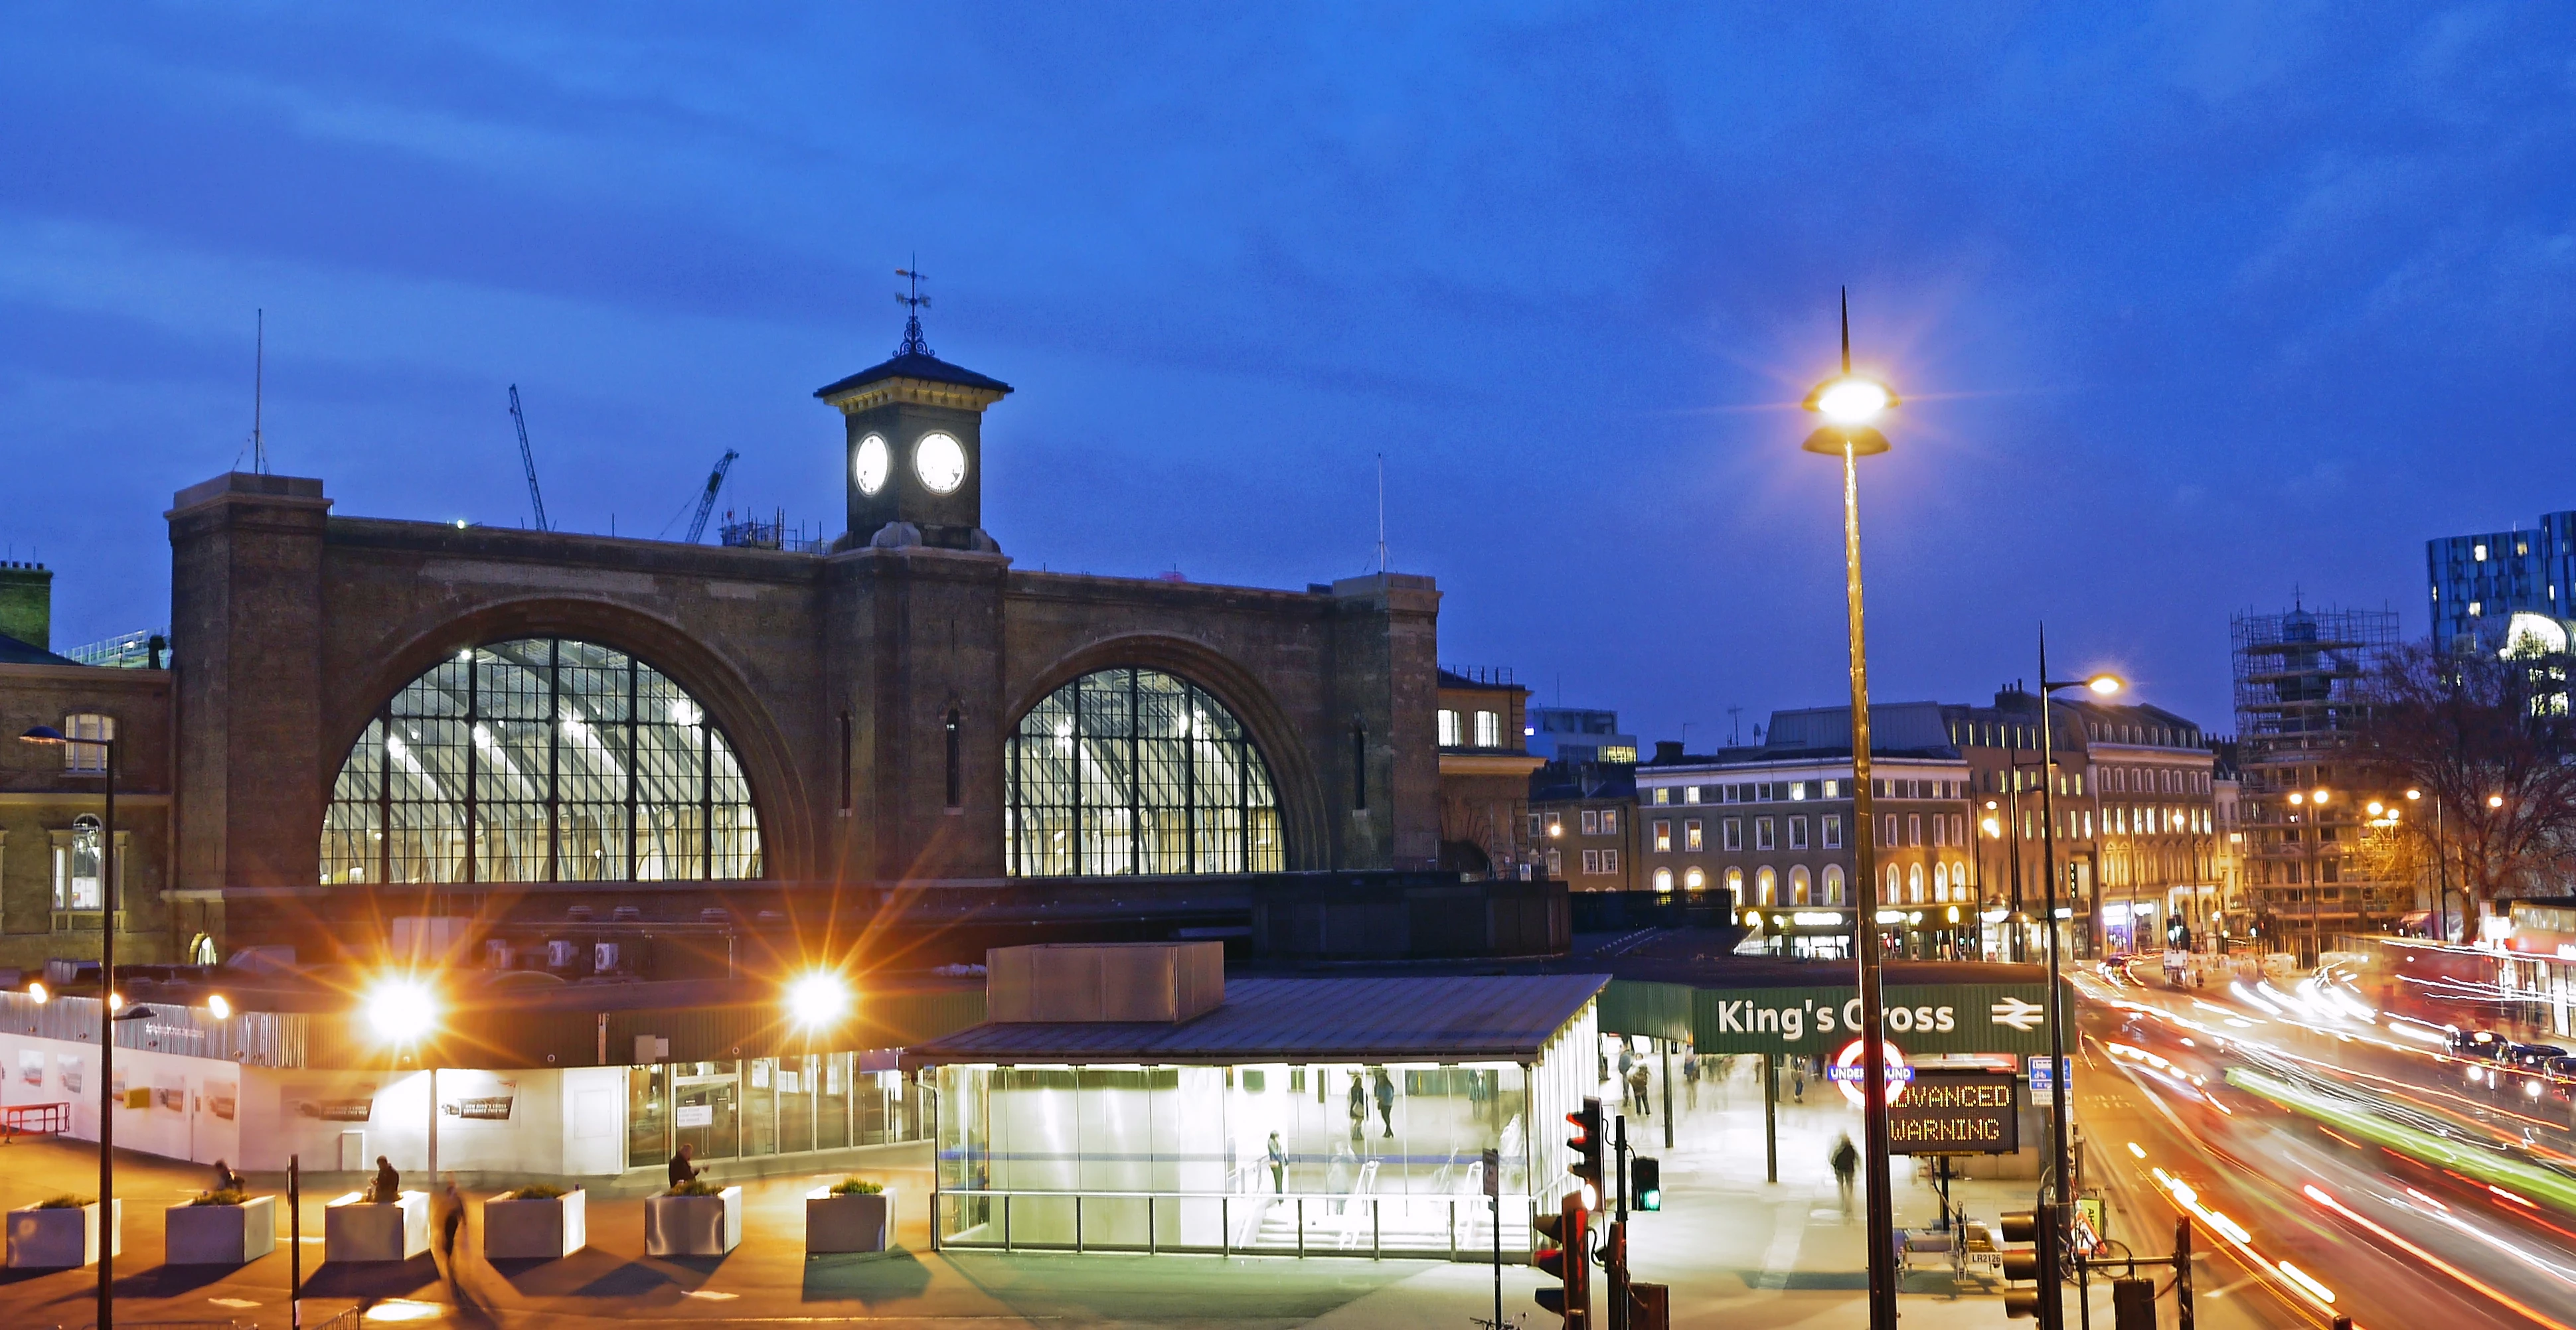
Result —
<instances>
[{"instance_id":1,"label":"clock tower with two lit faces and weather vane on top","mask_svg":"<svg viewBox=\"0 0 2576 1330\"><path fill-rule=\"evenodd\" d=\"M984 534L984 407L1010 384L958 369L922 343L920 273L909 296L904 343L894 358L863 369L814 397L840 407L848 425L840 479L850 492L850 531L835 549L866 544L930 544L997 549Z\"/></svg>"}]
</instances>

